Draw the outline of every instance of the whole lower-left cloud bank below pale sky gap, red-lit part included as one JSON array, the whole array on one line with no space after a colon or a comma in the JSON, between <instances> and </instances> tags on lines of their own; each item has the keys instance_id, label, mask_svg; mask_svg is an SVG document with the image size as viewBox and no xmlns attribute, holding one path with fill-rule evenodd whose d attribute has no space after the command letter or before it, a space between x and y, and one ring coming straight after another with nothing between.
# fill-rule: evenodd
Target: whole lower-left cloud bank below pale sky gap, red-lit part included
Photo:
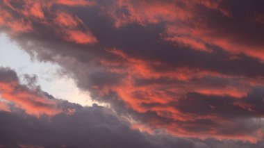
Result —
<instances>
[{"instance_id":1,"label":"whole lower-left cloud bank below pale sky gap, red-lit part included","mask_svg":"<svg viewBox=\"0 0 264 148\"><path fill-rule=\"evenodd\" d=\"M131 129L130 123L117 117L110 108L96 104L83 107L55 99L41 90L43 96L37 98L40 94L28 89L22 92L22 87L26 89L22 85L3 88L3 83L17 82L11 69L1 67L0 78L1 97L13 103L0 101L1 147L207 147L202 142ZM51 102L60 112L51 112L55 110Z\"/></svg>"}]
</instances>

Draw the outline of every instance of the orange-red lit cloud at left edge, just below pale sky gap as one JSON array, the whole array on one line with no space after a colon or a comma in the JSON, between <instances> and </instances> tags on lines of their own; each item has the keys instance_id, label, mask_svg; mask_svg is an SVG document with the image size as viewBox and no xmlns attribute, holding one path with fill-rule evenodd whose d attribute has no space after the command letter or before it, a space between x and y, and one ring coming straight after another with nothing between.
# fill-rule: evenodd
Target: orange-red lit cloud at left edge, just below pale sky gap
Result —
<instances>
[{"instance_id":1,"label":"orange-red lit cloud at left edge, just below pale sky gap","mask_svg":"<svg viewBox=\"0 0 264 148\"><path fill-rule=\"evenodd\" d=\"M0 77L1 98L9 104L36 116L60 113L56 107L56 100L45 97L39 88L30 89L26 85L19 84L17 74L13 70L1 67ZM1 102L1 104L2 110L8 110L7 103Z\"/></svg>"}]
</instances>

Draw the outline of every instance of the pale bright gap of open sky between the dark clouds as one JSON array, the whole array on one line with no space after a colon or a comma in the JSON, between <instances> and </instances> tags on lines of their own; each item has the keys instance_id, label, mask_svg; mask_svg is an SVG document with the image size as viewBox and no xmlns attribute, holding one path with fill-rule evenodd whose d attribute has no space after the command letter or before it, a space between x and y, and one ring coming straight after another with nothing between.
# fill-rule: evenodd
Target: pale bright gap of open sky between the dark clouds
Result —
<instances>
[{"instance_id":1,"label":"pale bright gap of open sky between the dark clouds","mask_svg":"<svg viewBox=\"0 0 264 148\"><path fill-rule=\"evenodd\" d=\"M0 66L14 69L20 80L24 74L38 76L38 85L42 90L58 99L91 106L94 102L88 92L82 92L76 87L74 80L58 74L59 65L32 60L20 47L8 39L6 34L0 34Z\"/></svg>"}]
</instances>

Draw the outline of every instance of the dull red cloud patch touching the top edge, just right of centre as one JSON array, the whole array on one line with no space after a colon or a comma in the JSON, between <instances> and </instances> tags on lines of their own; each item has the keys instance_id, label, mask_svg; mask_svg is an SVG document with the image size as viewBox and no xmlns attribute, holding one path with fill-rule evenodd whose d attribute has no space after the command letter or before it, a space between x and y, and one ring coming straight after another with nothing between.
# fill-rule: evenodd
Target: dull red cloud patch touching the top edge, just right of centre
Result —
<instances>
[{"instance_id":1,"label":"dull red cloud patch touching the top edge, just right of centre","mask_svg":"<svg viewBox=\"0 0 264 148\"><path fill-rule=\"evenodd\" d=\"M120 0L117 6L110 10L110 15L115 19L115 26L122 26L124 24L138 22L139 24L158 23L163 20L176 21L176 19L188 19L192 17L192 13L184 10L180 6L174 5L174 2L163 3L161 1L154 1L147 3L147 1L136 1L137 6L133 5L133 1ZM130 15L124 13L117 13L119 8L127 8Z\"/></svg>"}]
</instances>

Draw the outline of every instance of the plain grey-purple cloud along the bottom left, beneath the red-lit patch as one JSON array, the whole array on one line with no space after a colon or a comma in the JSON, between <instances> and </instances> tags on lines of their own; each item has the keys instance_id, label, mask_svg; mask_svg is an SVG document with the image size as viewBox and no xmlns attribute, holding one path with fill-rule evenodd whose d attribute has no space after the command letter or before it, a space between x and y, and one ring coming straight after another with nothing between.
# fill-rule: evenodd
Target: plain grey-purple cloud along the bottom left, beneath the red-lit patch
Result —
<instances>
[{"instance_id":1,"label":"plain grey-purple cloud along the bottom left, beneath the red-lit patch","mask_svg":"<svg viewBox=\"0 0 264 148\"><path fill-rule=\"evenodd\" d=\"M67 103L68 105L71 105ZM72 104L73 105L73 104ZM0 112L3 147L207 147L169 135L149 135L130 129L101 106L76 108L50 120ZM19 124L16 124L19 123ZM5 128L3 128L5 127ZM36 133L38 133L36 135Z\"/></svg>"}]
</instances>

